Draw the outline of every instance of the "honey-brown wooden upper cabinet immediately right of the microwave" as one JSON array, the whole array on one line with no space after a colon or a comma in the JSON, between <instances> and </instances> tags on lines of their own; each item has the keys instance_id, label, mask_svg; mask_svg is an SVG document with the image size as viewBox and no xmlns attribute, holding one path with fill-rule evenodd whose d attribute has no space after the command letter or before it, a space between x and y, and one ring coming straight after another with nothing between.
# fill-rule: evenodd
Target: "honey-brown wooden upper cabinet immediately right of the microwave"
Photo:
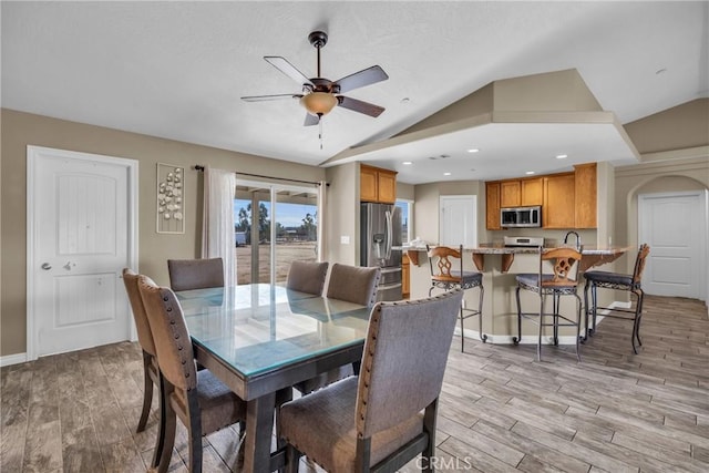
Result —
<instances>
[{"instance_id":1,"label":"honey-brown wooden upper cabinet immediately right of the microwave","mask_svg":"<svg viewBox=\"0 0 709 473\"><path fill-rule=\"evenodd\" d=\"M544 228L575 228L574 173L545 176L542 222Z\"/></svg>"}]
</instances>

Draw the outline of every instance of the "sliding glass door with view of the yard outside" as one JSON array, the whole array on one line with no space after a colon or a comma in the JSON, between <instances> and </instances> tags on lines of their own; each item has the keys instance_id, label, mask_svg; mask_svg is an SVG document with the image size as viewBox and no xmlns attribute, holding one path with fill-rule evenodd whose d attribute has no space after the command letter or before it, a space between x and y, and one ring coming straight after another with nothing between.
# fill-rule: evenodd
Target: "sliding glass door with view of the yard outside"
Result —
<instances>
[{"instance_id":1,"label":"sliding glass door with view of the yard outside","mask_svg":"<svg viewBox=\"0 0 709 473\"><path fill-rule=\"evenodd\" d=\"M318 259L318 188L237 179L237 284L285 284L290 261Z\"/></svg>"}]
</instances>

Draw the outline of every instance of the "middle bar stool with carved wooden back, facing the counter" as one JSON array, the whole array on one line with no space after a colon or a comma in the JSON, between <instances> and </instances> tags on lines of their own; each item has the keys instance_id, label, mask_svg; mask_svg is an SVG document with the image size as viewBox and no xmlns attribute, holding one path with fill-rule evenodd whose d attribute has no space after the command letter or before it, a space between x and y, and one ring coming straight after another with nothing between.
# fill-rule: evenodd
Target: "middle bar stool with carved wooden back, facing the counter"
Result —
<instances>
[{"instance_id":1,"label":"middle bar stool with carved wooden back, facing the counter","mask_svg":"<svg viewBox=\"0 0 709 473\"><path fill-rule=\"evenodd\" d=\"M554 346L558 346L558 328L576 327L576 359L580 361L578 352L578 341L580 336L582 322L582 305L580 297L577 292L578 278L576 277L574 266L580 260L580 253L574 248L552 248L544 249L540 247L540 270L533 274L521 274L516 276L517 288L515 298L517 300L517 337L512 339L514 345L518 345L522 340L522 318L534 321L538 325L538 338L536 345L537 361L542 361L542 333L544 327L554 328ZM552 264L553 273L544 273L545 263ZM576 277L576 279L572 279ZM538 312L522 312L520 304L520 290L531 290L540 296ZM552 296L552 312L544 312L544 301L546 296ZM576 320L559 313L559 302L562 296L574 296L576 298ZM544 320L545 317L552 317L551 322ZM563 320L559 322L559 319Z\"/></svg>"}]
</instances>

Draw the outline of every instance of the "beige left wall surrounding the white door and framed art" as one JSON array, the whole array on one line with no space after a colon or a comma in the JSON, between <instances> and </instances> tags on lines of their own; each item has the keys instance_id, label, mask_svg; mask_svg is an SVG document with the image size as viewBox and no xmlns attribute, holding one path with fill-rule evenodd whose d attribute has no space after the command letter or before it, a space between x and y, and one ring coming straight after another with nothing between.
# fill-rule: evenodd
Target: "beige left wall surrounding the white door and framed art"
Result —
<instances>
[{"instance_id":1,"label":"beige left wall surrounding the white door and framed art","mask_svg":"<svg viewBox=\"0 0 709 473\"><path fill-rule=\"evenodd\" d=\"M193 258L201 247L202 178L195 164L304 181L325 179L325 169L290 162L197 146L100 126L20 113L1 112L1 239L0 356L25 350L25 161L27 145L47 146L138 161L138 268L158 284L167 284L165 260ZM156 163L184 166L184 235L155 232ZM337 189L330 186L330 195ZM336 199L337 202L337 199Z\"/></svg>"}]
</instances>

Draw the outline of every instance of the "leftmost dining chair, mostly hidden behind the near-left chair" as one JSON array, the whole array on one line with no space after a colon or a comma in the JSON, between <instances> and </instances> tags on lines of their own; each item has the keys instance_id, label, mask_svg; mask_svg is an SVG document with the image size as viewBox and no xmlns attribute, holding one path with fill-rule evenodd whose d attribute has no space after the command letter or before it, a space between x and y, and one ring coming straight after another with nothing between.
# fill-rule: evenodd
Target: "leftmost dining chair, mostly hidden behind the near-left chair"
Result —
<instances>
[{"instance_id":1,"label":"leftmost dining chair, mostly hidden behind the near-left chair","mask_svg":"<svg viewBox=\"0 0 709 473\"><path fill-rule=\"evenodd\" d=\"M160 388L160 380L156 358L157 352L155 351L155 342L153 341L153 333L151 333L151 326L147 321L147 313L145 313L143 299L141 299L141 292L137 288L138 277L140 275L133 270L123 268L123 284L125 285L125 291L129 295L131 310L133 311L133 320L135 320L135 328L137 329L137 342L143 350L143 410L136 429L136 432L143 432L153 403L153 384Z\"/></svg>"}]
</instances>

